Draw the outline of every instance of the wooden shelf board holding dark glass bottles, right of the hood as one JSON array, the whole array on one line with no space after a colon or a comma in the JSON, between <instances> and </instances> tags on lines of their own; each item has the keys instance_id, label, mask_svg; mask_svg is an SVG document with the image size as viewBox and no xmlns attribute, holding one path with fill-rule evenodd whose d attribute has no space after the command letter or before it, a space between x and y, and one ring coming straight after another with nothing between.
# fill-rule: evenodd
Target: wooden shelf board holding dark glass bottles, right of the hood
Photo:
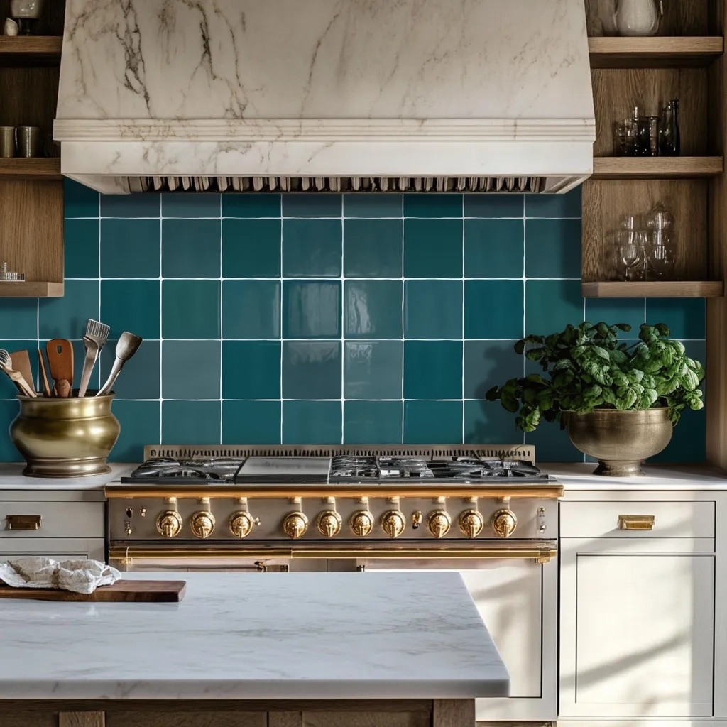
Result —
<instances>
[{"instance_id":1,"label":"wooden shelf board holding dark glass bottles, right of the hood","mask_svg":"<svg viewBox=\"0 0 727 727\"><path fill-rule=\"evenodd\" d=\"M695 179L718 177L724 169L721 156L597 156L593 179Z\"/></svg>"}]
</instances>

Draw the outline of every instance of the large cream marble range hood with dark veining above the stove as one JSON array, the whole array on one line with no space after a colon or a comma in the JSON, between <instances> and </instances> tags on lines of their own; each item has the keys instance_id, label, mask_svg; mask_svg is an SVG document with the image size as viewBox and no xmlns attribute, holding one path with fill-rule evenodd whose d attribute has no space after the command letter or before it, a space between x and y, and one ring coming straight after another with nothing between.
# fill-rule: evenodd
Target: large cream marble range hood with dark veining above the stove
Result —
<instances>
[{"instance_id":1,"label":"large cream marble range hood with dark veining above the stove","mask_svg":"<svg viewBox=\"0 0 727 727\"><path fill-rule=\"evenodd\" d=\"M583 0L68 0L54 135L105 193L564 192Z\"/></svg>"}]
</instances>

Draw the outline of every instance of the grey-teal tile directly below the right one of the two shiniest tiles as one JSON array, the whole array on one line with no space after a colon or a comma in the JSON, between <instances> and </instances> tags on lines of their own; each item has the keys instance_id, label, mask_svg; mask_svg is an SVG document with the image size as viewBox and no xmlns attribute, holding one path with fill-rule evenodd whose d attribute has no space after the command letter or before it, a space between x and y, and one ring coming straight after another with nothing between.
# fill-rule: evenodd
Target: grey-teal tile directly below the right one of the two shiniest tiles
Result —
<instances>
[{"instance_id":1,"label":"grey-teal tile directly below the right one of the two shiniest tiles","mask_svg":"<svg viewBox=\"0 0 727 727\"><path fill-rule=\"evenodd\" d=\"M401 399L401 341L347 341L344 358L345 398Z\"/></svg>"}]
</instances>

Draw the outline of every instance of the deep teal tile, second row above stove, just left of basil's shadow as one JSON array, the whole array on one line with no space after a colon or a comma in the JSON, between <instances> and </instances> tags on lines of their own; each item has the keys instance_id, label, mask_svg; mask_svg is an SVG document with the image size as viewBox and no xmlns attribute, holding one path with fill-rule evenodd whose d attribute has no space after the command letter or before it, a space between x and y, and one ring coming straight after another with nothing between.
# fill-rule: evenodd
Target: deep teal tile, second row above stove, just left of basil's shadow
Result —
<instances>
[{"instance_id":1,"label":"deep teal tile, second row above stove, just left of basil's shadow","mask_svg":"<svg viewBox=\"0 0 727 727\"><path fill-rule=\"evenodd\" d=\"M404 398L461 399L462 342L405 341Z\"/></svg>"}]
</instances>

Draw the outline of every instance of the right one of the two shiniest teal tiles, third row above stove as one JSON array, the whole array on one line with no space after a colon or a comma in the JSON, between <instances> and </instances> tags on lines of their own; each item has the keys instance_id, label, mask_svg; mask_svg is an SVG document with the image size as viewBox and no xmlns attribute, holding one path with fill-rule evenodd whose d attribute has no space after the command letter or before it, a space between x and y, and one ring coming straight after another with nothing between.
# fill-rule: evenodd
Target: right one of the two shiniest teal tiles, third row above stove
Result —
<instances>
[{"instance_id":1,"label":"right one of the two shiniest teal tiles, third row above stove","mask_svg":"<svg viewBox=\"0 0 727 727\"><path fill-rule=\"evenodd\" d=\"M343 292L346 338L401 339L401 281L347 280Z\"/></svg>"}]
</instances>

